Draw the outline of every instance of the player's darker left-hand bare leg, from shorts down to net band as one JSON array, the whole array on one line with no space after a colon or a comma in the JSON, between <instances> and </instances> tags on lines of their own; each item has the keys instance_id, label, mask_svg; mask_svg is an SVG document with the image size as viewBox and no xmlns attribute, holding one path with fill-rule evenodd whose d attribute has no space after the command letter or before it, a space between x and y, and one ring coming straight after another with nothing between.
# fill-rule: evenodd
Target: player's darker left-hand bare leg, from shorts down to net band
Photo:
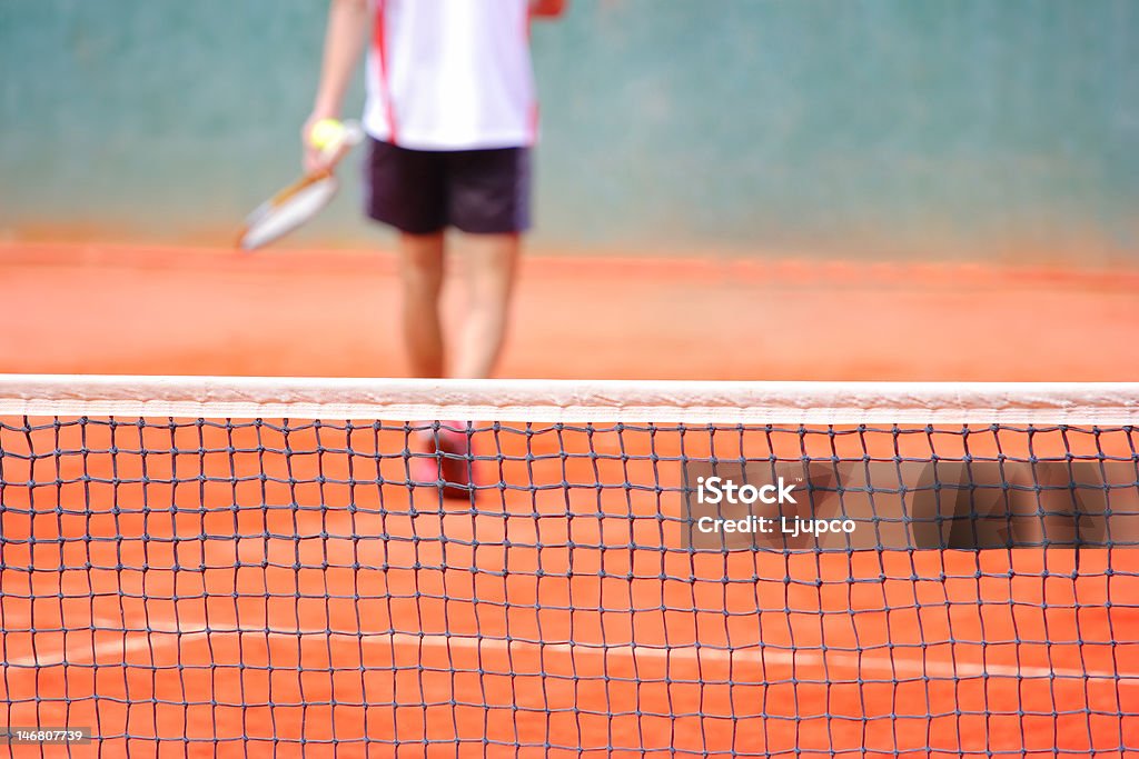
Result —
<instances>
[{"instance_id":1,"label":"player's darker left-hand bare leg, from shorts down to net band","mask_svg":"<svg viewBox=\"0 0 1139 759\"><path fill-rule=\"evenodd\" d=\"M400 237L403 279L403 343L413 377L443 376L443 233Z\"/></svg>"}]
</instances>

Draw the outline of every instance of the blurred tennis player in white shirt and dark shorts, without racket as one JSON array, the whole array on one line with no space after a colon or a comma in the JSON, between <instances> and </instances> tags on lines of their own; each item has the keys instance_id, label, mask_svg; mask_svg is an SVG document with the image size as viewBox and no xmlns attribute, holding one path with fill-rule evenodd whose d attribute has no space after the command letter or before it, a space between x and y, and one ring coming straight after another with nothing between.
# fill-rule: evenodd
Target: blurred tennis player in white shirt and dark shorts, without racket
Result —
<instances>
[{"instance_id":1,"label":"blurred tennis player in white shirt and dark shorts, without racket","mask_svg":"<svg viewBox=\"0 0 1139 759\"><path fill-rule=\"evenodd\" d=\"M530 226L531 148L538 104L532 17L565 0L333 0L305 168L320 167L311 129L339 118L364 42L367 214L400 232L403 340L418 377L489 377L506 332ZM364 33L367 31L367 34ZM440 291L444 232L467 233L460 333L444 355ZM466 486L466 436L434 438L442 478ZM424 460L413 460L424 461ZM436 472L440 473L440 472ZM416 479L420 479L412 472ZM448 495L466 495L448 492Z\"/></svg>"}]
</instances>

